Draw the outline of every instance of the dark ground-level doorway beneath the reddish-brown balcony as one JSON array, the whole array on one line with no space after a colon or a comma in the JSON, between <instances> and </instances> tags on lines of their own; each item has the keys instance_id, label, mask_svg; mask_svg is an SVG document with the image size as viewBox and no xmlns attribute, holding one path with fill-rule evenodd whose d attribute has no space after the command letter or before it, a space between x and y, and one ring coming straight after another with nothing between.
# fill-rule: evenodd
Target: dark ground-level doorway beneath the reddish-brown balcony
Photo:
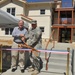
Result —
<instances>
[{"instance_id":1,"label":"dark ground-level doorway beneath the reddish-brown balcony","mask_svg":"<svg viewBox=\"0 0 75 75\"><path fill-rule=\"evenodd\" d=\"M71 28L59 29L59 42L63 42L63 43L71 42Z\"/></svg>"}]
</instances>

